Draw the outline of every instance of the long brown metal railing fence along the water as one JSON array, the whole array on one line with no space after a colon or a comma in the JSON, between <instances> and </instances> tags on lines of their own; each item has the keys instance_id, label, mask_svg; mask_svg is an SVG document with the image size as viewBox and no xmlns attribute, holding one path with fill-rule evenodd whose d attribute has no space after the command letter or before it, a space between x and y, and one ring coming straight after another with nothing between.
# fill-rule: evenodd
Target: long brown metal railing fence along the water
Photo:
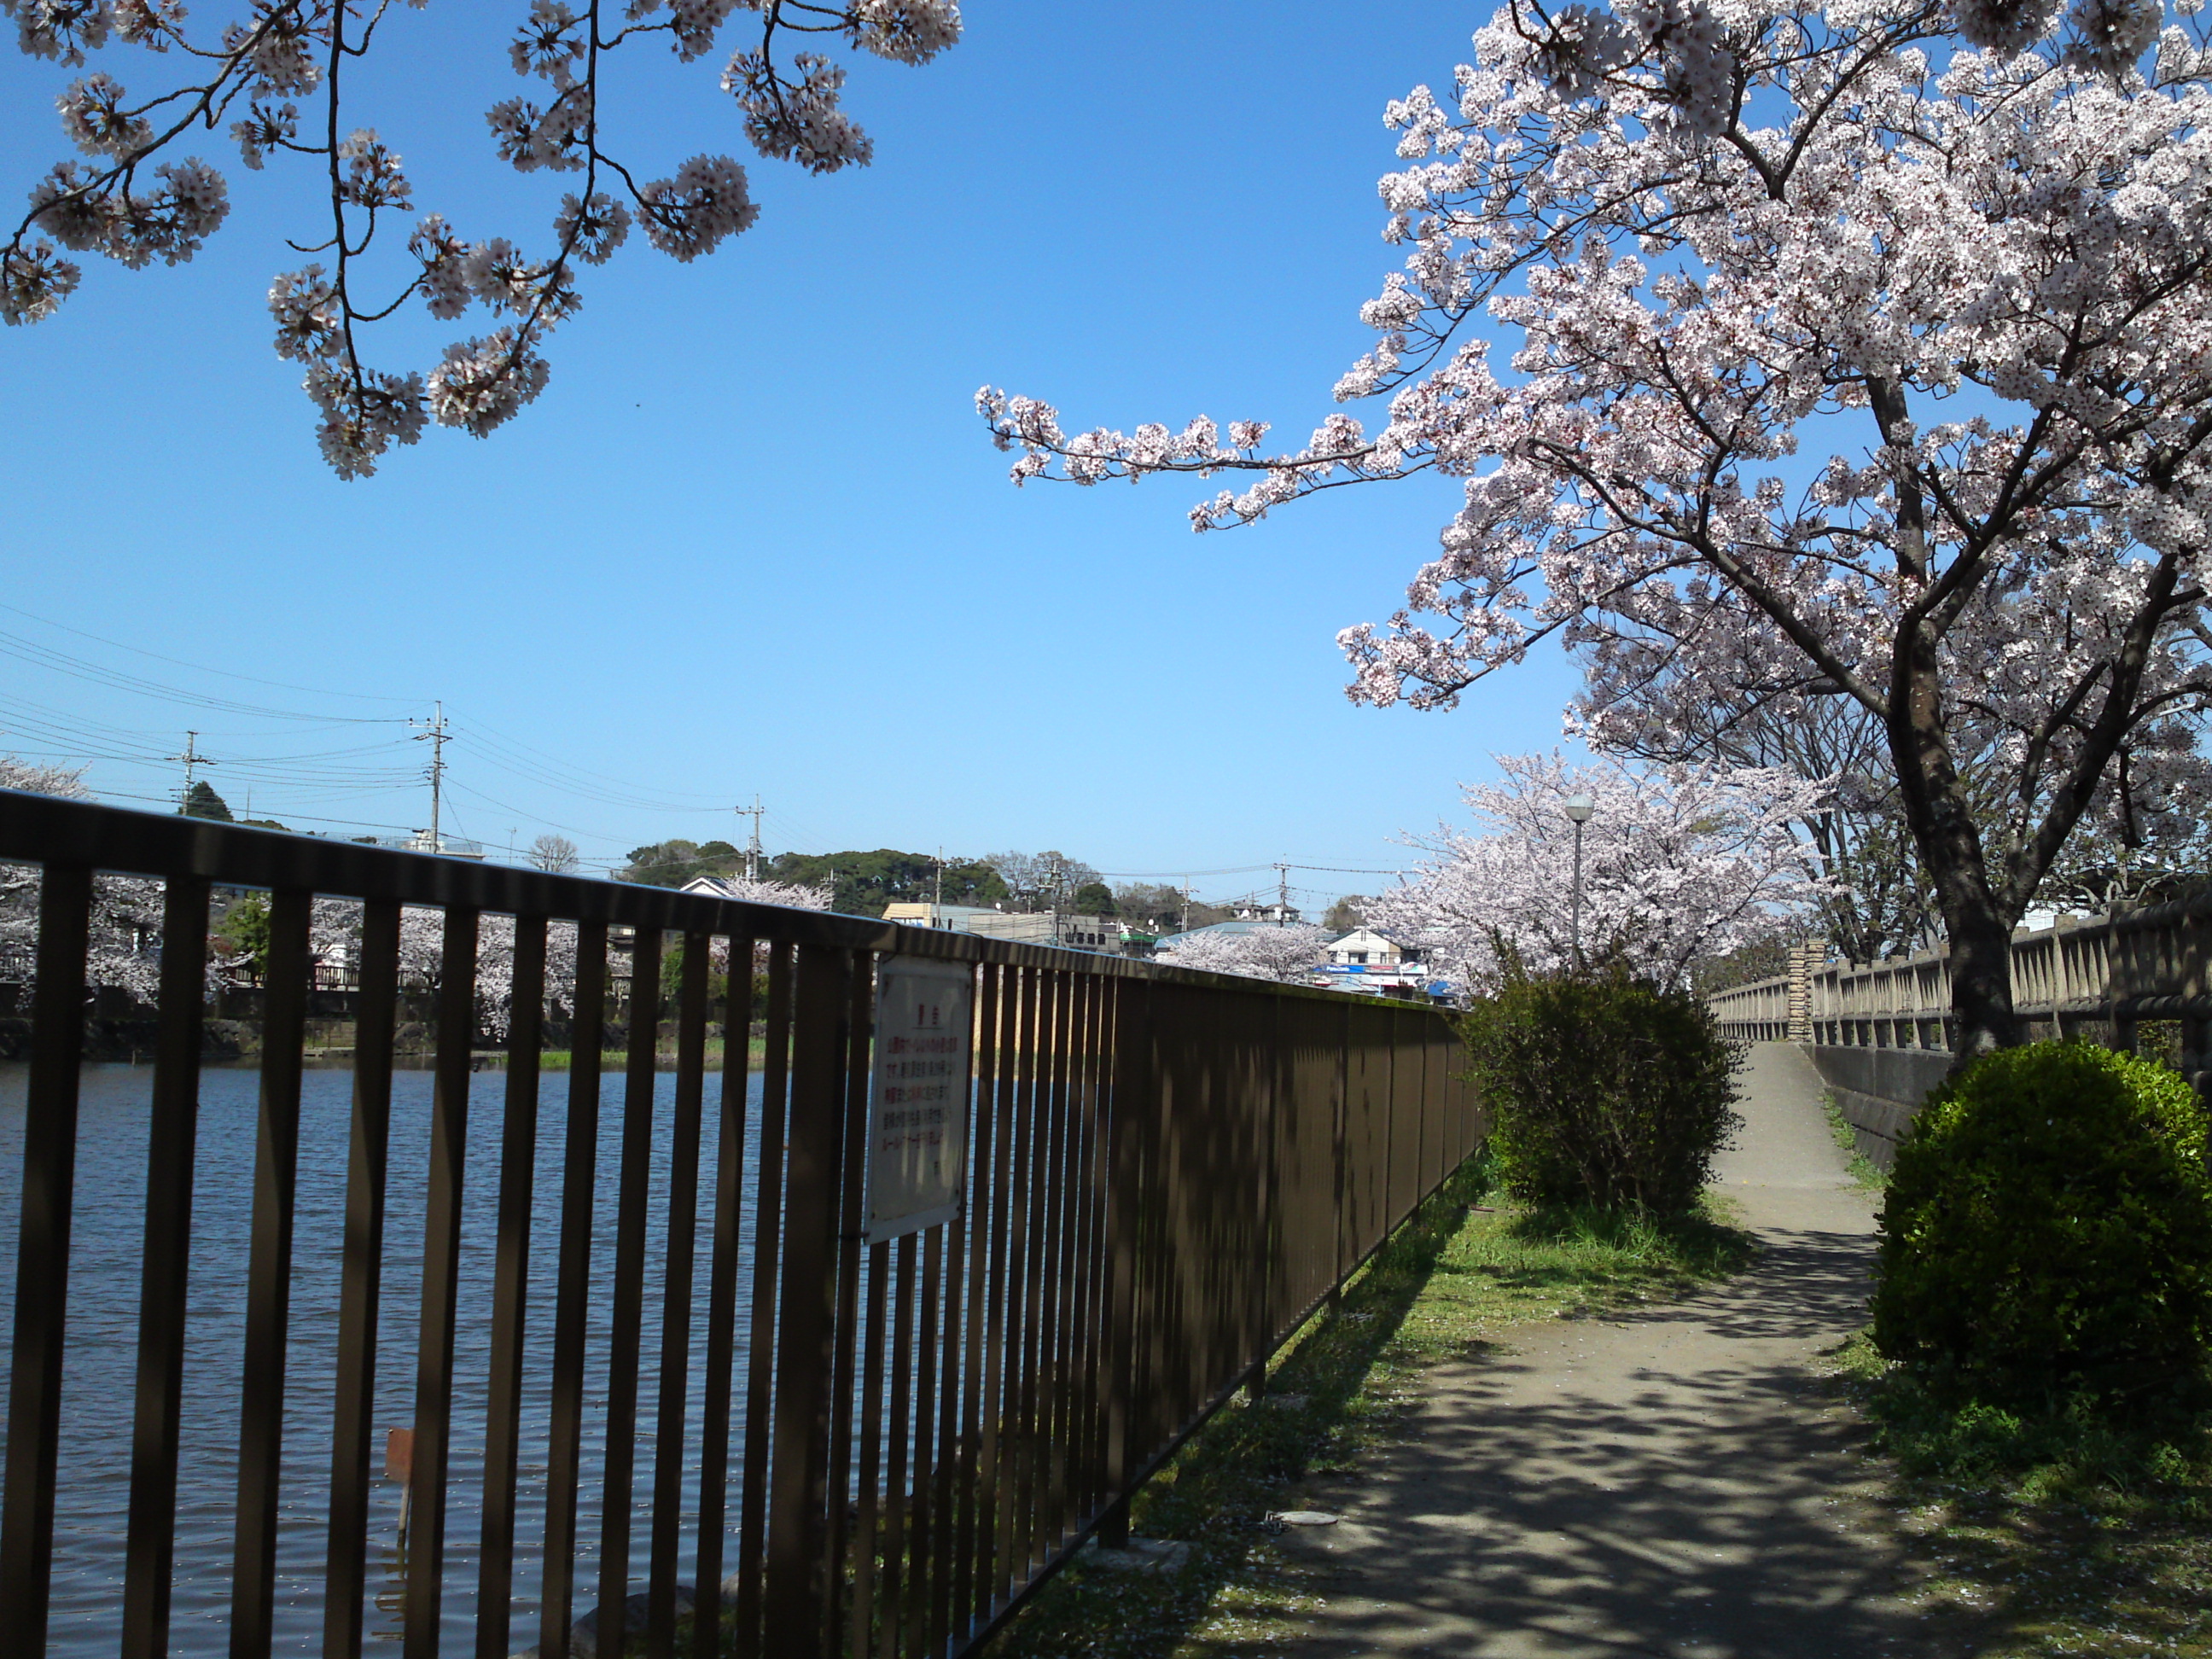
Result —
<instances>
[{"instance_id":1,"label":"long brown metal railing fence along the water","mask_svg":"<svg viewBox=\"0 0 2212 1659\"><path fill-rule=\"evenodd\" d=\"M586 1606L604 1615L588 1650L617 1659L639 1582L655 1659L967 1652L1088 1533L1126 1528L1146 1475L1263 1376L1484 1130L1449 1022L1374 998L20 794L0 794L0 860L42 865L22 1161L0 1168L0 1188L20 1179L0 1493L9 1655L49 1648L58 1504L66 1522L75 1498L58 1493L60 1425L64 1407L86 1409L64 1398L64 1336L84 1340L93 1312L106 1340L128 1332L137 1352L131 1405L102 1407L131 1442L128 1520L97 1546L119 1590L119 1652L157 1659L179 1644L170 1595L199 1318L188 1263L208 1181L195 1137L210 885L272 894L250 1245L237 1263L243 1343L226 1360L237 1440L219 1624L232 1659L279 1646L279 1533L301 1506L321 1557L285 1606L312 1604L310 1646L325 1659L354 1659L378 1608L398 1621L405 1659L431 1659L442 1635L447 1652L478 1659L529 1641L566 1655ZM95 872L164 880L137 1190L73 1179ZM361 900L358 1048L343 1223L296 1237L310 1214L301 1035L316 896ZM442 911L445 938L418 1166L398 1161L394 1128L405 907ZM504 1075L471 1075L487 916L515 918ZM562 1091L540 1075L540 1044L549 931L568 927ZM635 929L622 967L639 1031L619 1084L599 1066L602 1048L624 1046L606 1029L619 989L611 927ZM657 1117L668 933L681 936L684 964L672 1099ZM765 956L757 1088L734 1042L732 1073L708 1088L717 938L732 964ZM969 969L973 1086L960 1214L867 1243L869 1031L885 958ZM562 1141L542 1157L540 1119L551 1128L562 1093ZM619 1121L602 1124L602 1099ZM484 1106L498 1137L480 1121L471 1141L471 1110ZM540 1166L557 1170L557 1190ZM489 1248L462 1225L465 1192L482 1183L495 1186ZM418 1252L387 1234L400 1197L420 1206ZM595 1203L613 1208L611 1232L595 1234ZM142 1234L139 1272L128 1305L88 1310L71 1301L73 1219L115 1208ZM312 1259L336 1261L334 1332L314 1349L332 1356L330 1374L303 1391L292 1290ZM416 1261L403 1349L411 1531L380 1597L378 1371L389 1389L392 1345L407 1338L394 1321L380 1332L378 1310L414 1290L400 1281ZM542 1387L524 1387L533 1365ZM480 1374L458 1378L467 1367ZM310 1398L327 1409L303 1429ZM305 1491L303 1433L323 1447L312 1467L327 1469ZM465 1493L467 1471L480 1475ZM449 1520L462 1513L480 1531L473 1584L449 1562L465 1542ZM82 1533L73 1548L86 1548ZM535 1597L518 1597L531 1564ZM456 1608L467 1637L453 1637Z\"/></svg>"}]
</instances>

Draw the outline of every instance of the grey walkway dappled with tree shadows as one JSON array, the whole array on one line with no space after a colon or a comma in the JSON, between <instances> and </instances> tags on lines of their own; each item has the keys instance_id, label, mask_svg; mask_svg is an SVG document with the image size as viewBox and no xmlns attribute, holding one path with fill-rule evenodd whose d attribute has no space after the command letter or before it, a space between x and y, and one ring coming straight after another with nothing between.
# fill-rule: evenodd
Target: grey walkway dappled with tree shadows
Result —
<instances>
[{"instance_id":1,"label":"grey walkway dappled with tree shadows","mask_svg":"<svg viewBox=\"0 0 2212 1659\"><path fill-rule=\"evenodd\" d=\"M1818 1349L1865 1323L1874 1217L1812 1064L1752 1051L1719 1186L1765 1254L1683 1303L1542 1327L1429 1374L1402 1442L1279 1542L1327 1606L1294 1659L1849 1659L1971 1652L1900 1606Z\"/></svg>"}]
</instances>

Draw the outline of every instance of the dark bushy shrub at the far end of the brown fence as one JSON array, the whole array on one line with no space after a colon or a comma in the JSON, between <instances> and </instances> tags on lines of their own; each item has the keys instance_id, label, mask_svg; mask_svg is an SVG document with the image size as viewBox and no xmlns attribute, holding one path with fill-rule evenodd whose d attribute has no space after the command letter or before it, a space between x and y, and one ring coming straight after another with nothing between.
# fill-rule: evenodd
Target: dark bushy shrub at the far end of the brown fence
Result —
<instances>
[{"instance_id":1,"label":"dark bushy shrub at the far end of the brown fence","mask_svg":"<svg viewBox=\"0 0 2212 1659\"><path fill-rule=\"evenodd\" d=\"M1542 978L1509 962L1462 1033L1522 1203L1683 1214L1741 1121L1736 1044L1699 998L1617 962Z\"/></svg>"}]
</instances>

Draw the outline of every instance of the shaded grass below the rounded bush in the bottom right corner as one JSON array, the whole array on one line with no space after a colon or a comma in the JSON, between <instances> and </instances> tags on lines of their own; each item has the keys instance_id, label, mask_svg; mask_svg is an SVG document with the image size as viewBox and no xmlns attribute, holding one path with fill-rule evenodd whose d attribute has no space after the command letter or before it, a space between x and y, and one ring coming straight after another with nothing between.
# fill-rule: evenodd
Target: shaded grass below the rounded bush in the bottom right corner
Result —
<instances>
[{"instance_id":1,"label":"shaded grass below the rounded bush in the bottom right corner","mask_svg":"<svg viewBox=\"0 0 2212 1659\"><path fill-rule=\"evenodd\" d=\"M1865 1334L1832 1358L1893 1460L1889 1506L1936 1562L1924 1595L1986 1621L1980 1659L2212 1659L2212 1411L1962 1407Z\"/></svg>"}]
</instances>

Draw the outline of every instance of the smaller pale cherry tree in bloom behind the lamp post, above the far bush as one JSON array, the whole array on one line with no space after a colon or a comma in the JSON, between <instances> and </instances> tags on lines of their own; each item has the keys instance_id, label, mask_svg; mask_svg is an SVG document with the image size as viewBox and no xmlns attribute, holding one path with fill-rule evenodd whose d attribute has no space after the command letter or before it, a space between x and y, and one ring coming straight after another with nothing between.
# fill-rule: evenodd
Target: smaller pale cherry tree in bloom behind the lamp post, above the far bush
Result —
<instances>
[{"instance_id":1,"label":"smaller pale cherry tree in bloom behind the lamp post, above the far bush","mask_svg":"<svg viewBox=\"0 0 2212 1659\"><path fill-rule=\"evenodd\" d=\"M1369 925L1420 945L1462 993L1498 975L1500 947L1537 973L1575 962L1575 825L1584 794L1584 960L1617 956L1661 984L1690 964L1803 927L1834 887L1796 825L1820 783L1739 768L1568 765L1506 754L1500 781L1464 792L1478 832L1416 841L1429 858L1369 905Z\"/></svg>"}]
</instances>

